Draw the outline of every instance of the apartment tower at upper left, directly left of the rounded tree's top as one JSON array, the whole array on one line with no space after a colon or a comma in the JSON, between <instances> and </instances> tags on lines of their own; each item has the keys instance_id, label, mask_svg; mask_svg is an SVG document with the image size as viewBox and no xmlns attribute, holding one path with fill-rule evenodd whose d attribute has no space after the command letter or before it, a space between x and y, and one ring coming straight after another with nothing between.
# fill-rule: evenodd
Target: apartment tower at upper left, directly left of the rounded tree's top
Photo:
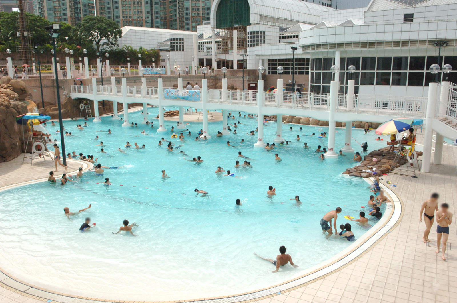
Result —
<instances>
[{"instance_id":1,"label":"apartment tower at upper left, directly left of the rounded tree's top","mask_svg":"<svg viewBox=\"0 0 457 303\"><path fill-rule=\"evenodd\" d=\"M85 16L95 16L94 0L36 0L34 13L51 22L80 23Z\"/></svg>"}]
</instances>

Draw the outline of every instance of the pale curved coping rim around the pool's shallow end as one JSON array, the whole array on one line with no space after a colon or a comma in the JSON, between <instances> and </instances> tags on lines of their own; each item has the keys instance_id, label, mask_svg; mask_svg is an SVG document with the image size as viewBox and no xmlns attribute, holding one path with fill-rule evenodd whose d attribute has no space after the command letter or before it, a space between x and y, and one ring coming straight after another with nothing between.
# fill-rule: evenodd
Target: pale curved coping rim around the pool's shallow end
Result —
<instances>
[{"instance_id":1,"label":"pale curved coping rim around the pool's shallow end","mask_svg":"<svg viewBox=\"0 0 457 303\"><path fill-rule=\"evenodd\" d=\"M76 162L82 162L79 160L73 160ZM85 165L85 171L90 167L90 163L82 162ZM34 184L46 181L46 178L32 180L28 182L16 183L4 186L0 188L0 192L11 188L20 187L23 185ZM372 178L363 178L364 181L370 184ZM61 302L61 303L99 303L99 302L120 302L120 303L182 303L182 302L196 302L196 303L247 303L254 302L264 298L271 298L273 296L290 292L297 288L311 284L317 280L329 276L330 274L339 271L340 269L348 266L352 262L358 260L361 256L365 255L367 251L371 250L374 245L379 243L383 238L388 235L388 232L393 230L399 225L399 220L403 217L404 203L403 200L394 193L387 185L381 183L380 186L383 190L388 193L391 198L391 206L393 209L389 211L388 218L384 219L382 224L377 227L369 235L364 235L361 242L357 243L356 247L349 246L345 250L336 254L333 260L323 261L315 266L309 267L307 273L294 277L291 280L276 284L271 287L257 289L249 293L239 293L233 295L227 295L223 297L212 297L212 298L199 298L199 299L185 299L175 301L126 301L126 300L109 300L100 298L89 298L65 293L58 293L52 290L48 290L42 287L31 285L24 282L9 272L6 272L0 267L0 286L8 289L14 293L19 293L28 298L35 298L41 301L48 302ZM377 223L379 224L379 223ZM326 263L326 264L325 264ZM320 266L320 267L318 267ZM7 284L9 283L9 284ZM56 297L57 296L57 297Z\"/></svg>"}]
</instances>

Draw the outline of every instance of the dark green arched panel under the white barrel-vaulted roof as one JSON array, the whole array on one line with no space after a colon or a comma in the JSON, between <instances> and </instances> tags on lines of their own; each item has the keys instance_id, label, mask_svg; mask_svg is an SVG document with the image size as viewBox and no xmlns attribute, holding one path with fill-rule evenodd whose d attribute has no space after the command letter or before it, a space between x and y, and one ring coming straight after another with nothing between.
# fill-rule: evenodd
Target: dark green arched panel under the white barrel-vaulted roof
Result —
<instances>
[{"instance_id":1,"label":"dark green arched panel under the white barrel-vaulted roof","mask_svg":"<svg viewBox=\"0 0 457 303\"><path fill-rule=\"evenodd\" d=\"M221 0L216 11L216 28L250 25L248 0Z\"/></svg>"}]
</instances>

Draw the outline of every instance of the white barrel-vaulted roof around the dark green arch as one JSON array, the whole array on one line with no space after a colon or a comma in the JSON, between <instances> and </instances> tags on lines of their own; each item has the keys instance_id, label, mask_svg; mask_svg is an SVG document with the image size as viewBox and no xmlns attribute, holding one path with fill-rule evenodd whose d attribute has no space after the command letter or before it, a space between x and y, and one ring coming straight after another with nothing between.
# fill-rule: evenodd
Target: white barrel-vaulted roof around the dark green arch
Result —
<instances>
[{"instance_id":1,"label":"white barrel-vaulted roof around the dark green arch","mask_svg":"<svg viewBox=\"0 0 457 303\"><path fill-rule=\"evenodd\" d=\"M250 23L290 27L297 23L317 24L319 13L335 10L324 5L302 0L247 0L250 7ZM211 6L211 27L216 28L216 10L221 0Z\"/></svg>"}]
</instances>

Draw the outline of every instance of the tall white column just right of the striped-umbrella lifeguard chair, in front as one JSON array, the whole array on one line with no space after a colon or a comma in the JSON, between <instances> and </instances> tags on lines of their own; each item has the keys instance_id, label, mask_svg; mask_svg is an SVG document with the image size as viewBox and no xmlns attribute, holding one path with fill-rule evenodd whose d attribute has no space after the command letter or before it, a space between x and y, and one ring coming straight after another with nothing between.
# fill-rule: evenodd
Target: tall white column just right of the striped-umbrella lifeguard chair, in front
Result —
<instances>
[{"instance_id":1,"label":"tall white column just right of the striped-umbrella lifeguard chair, in front","mask_svg":"<svg viewBox=\"0 0 457 303\"><path fill-rule=\"evenodd\" d=\"M430 82L429 94L427 99L427 112L425 114L425 136L424 136L424 154L422 155L422 172L430 172L430 159L431 159L431 140L433 136L433 129L431 127L433 118L435 117L435 103L436 92L438 84Z\"/></svg>"}]
</instances>

